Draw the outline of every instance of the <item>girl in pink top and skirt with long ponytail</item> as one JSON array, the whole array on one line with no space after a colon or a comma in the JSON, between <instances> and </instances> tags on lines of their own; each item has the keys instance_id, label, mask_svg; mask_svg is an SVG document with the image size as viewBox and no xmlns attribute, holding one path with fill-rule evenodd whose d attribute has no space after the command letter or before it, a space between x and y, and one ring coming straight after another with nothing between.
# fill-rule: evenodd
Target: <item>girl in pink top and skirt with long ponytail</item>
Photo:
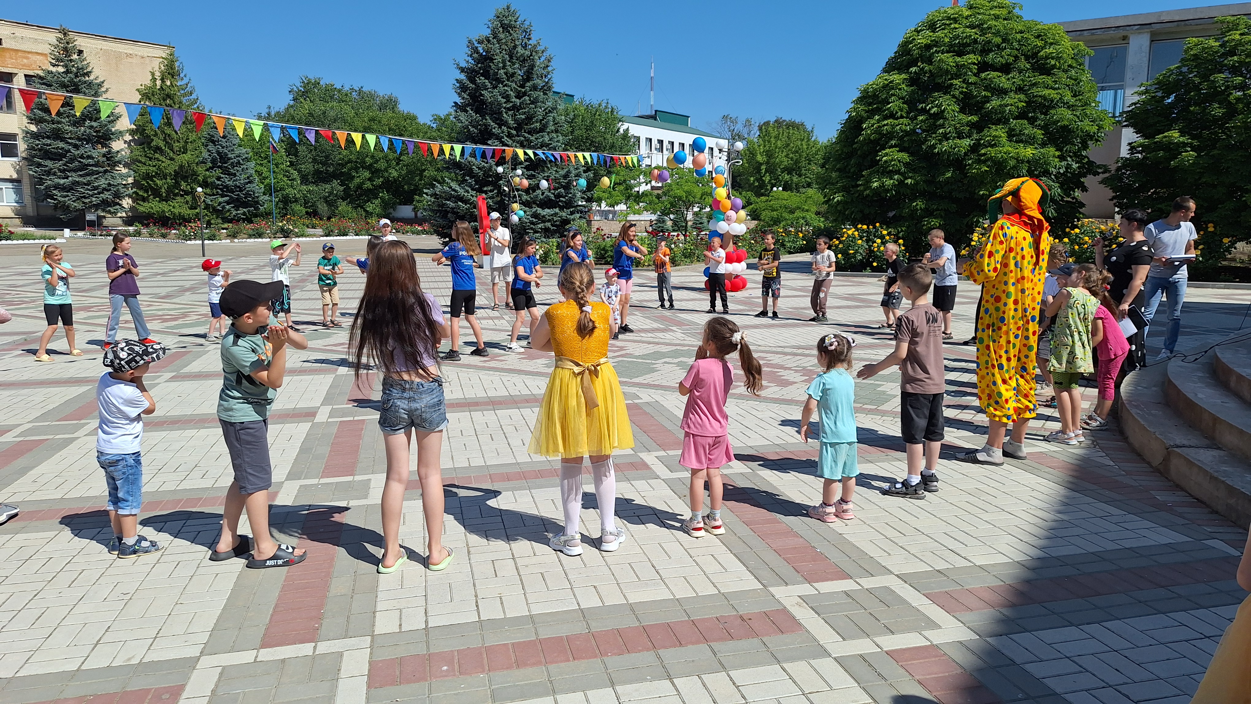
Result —
<instances>
[{"instance_id":1,"label":"girl in pink top and skirt with long ponytail","mask_svg":"<svg viewBox=\"0 0 1251 704\"><path fill-rule=\"evenodd\" d=\"M696 361L691 365L678 393L687 398L687 409L682 413L682 458L678 463L691 470L691 518L682 528L696 538L704 533L721 535L726 528L721 523L721 498L723 484L722 465L734 459L729 446L729 418L726 415L726 399L734 384L734 368L726 361L726 355L738 350L738 363L743 366L747 390L761 394L763 376L761 363L752 356L747 339L728 318L711 318L704 324L703 341L696 350ZM703 516L703 486L708 481L707 526Z\"/></svg>"}]
</instances>

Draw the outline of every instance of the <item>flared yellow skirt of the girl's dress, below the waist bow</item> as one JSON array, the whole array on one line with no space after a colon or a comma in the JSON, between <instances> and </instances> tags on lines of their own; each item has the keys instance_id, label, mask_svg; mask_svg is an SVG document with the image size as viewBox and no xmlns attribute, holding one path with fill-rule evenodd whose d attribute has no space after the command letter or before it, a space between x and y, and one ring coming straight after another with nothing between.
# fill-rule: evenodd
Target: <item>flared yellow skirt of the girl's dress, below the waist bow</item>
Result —
<instances>
[{"instance_id":1,"label":"flared yellow skirt of the girl's dress, below the waist bow","mask_svg":"<svg viewBox=\"0 0 1251 704\"><path fill-rule=\"evenodd\" d=\"M612 363L590 375L599 405L587 410L582 380L573 369L555 368L539 406L529 453L545 458L608 455L634 446L626 396Z\"/></svg>"}]
</instances>

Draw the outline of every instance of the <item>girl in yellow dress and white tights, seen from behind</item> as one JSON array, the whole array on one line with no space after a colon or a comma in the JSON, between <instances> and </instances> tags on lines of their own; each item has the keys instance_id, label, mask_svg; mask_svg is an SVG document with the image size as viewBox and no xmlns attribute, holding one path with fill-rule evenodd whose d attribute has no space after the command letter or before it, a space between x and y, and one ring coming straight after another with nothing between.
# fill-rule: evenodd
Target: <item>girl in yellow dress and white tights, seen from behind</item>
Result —
<instances>
[{"instance_id":1,"label":"girl in yellow dress and white tights, seen from behind","mask_svg":"<svg viewBox=\"0 0 1251 704\"><path fill-rule=\"evenodd\" d=\"M595 276L589 265L565 266L558 285L564 300L548 308L530 333L534 349L555 354L555 369L548 378L529 451L560 458L564 531L552 538L552 549L582 554L582 458L589 456L599 504L599 549L612 553L627 538L613 520L617 475L612 455L634 446L626 396L608 361L608 339L617 326L608 305L590 303Z\"/></svg>"}]
</instances>

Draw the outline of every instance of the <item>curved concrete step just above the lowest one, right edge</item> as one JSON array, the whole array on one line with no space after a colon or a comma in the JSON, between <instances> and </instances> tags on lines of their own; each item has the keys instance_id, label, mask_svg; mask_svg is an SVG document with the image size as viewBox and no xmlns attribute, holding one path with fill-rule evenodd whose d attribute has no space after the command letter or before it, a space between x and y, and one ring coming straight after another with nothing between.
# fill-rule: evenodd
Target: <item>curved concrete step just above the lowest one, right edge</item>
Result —
<instances>
[{"instance_id":1,"label":"curved concrete step just above the lowest one, right edge","mask_svg":"<svg viewBox=\"0 0 1251 704\"><path fill-rule=\"evenodd\" d=\"M1217 379L1215 356L1210 351L1193 363L1185 358L1168 361L1165 399L1187 425L1221 449L1251 460L1251 405Z\"/></svg>"}]
</instances>

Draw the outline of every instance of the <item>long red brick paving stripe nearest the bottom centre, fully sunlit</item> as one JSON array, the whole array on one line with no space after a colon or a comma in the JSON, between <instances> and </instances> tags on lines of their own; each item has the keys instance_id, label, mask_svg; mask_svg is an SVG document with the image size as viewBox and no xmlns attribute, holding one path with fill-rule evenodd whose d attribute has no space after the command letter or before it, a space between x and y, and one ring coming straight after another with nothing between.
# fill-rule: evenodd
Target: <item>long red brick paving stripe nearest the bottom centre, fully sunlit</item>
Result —
<instances>
[{"instance_id":1,"label":"long red brick paving stripe nearest the bottom centre, fully sunlit","mask_svg":"<svg viewBox=\"0 0 1251 704\"><path fill-rule=\"evenodd\" d=\"M789 611L773 609L387 658L369 663L369 689L802 630Z\"/></svg>"}]
</instances>

